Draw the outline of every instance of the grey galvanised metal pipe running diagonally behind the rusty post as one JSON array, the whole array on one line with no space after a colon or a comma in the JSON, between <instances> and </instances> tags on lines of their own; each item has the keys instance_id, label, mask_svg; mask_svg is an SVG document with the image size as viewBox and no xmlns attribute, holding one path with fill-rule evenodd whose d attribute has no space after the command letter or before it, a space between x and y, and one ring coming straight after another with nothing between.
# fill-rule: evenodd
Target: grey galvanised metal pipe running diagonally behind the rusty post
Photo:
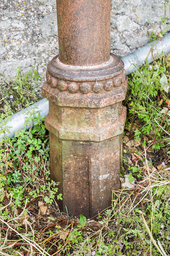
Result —
<instances>
[{"instance_id":1,"label":"grey galvanised metal pipe running diagonally behind the rusty post","mask_svg":"<svg viewBox=\"0 0 170 256\"><path fill-rule=\"evenodd\" d=\"M125 64L125 70L127 72L127 75L134 72L138 67L143 65L143 62L146 60L146 57L150 51L151 46L155 43L153 41L152 43L146 44L145 46L138 48L138 50L128 54L127 56L121 58ZM160 55L161 53L166 54L170 52L170 32L166 34L162 38L162 43L157 42L157 44L153 47L152 52L150 52L147 60L148 62L153 61L153 57ZM152 57L153 56L153 57ZM6 132L6 136L12 138L15 136L15 132L26 128L27 130L30 128L30 125L24 126L25 118L27 117L28 110L35 108L35 116L38 116L38 112L40 112L40 118L46 117L48 114L49 106L48 106L48 100L43 99L38 101L37 103L29 106L28 108L25 108L16 114L12 115L10 120L4 120L1 122L0 126L2 126L3 122L7 121L6 126L11 127L9 128L9 133ZM34 122L33 125L35 125L37 122ZM4 138L4 134L0 134L0 138Z\"/></svg>"}]
</instances>

